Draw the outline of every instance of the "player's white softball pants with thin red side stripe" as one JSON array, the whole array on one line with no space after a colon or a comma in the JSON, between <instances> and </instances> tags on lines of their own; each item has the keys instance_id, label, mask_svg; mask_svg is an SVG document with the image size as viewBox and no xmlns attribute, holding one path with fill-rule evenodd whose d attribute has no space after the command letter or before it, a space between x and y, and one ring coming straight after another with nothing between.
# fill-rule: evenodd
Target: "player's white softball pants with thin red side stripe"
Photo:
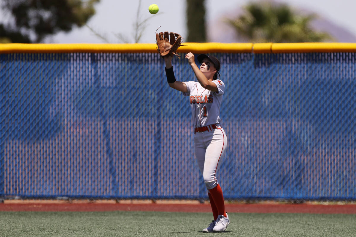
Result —
<instances>
[{"instance_id":1,"label":"player's white softball pants with thin red side stripe","mask_svg":"<svg viewBox=\"0 0 356 237\"><path fill-rule=\"evenodd\" d=\"M225 155L227 138L223 128L197 132L194 135L194 153L207 189L218 185L215 174Z\"/></svg>"}]
</instances>

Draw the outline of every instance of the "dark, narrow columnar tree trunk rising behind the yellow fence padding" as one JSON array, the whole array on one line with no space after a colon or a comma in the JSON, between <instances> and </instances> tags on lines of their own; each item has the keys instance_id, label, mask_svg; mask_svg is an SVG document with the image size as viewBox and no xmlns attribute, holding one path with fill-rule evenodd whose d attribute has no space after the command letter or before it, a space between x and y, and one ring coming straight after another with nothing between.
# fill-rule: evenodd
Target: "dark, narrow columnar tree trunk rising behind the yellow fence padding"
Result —
<instances>
[{"instance_id":1,"label":"dark, narrow columnar tree trunk rising behind the yellow fence padding","mask_svg":"<svg viewBox=\"0 0 356 237\"><path fill-rule=\"evenodd\" d=\"M206 42L205 0L187 0L187 42Z\"/></svg>"}]
</instances>

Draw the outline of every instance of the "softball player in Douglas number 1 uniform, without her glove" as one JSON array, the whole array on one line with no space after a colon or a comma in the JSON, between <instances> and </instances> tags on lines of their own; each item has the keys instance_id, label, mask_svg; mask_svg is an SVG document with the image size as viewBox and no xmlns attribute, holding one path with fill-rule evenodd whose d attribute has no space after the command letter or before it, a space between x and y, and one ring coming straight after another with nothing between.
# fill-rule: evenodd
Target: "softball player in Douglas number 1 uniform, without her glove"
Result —
<instances>
[{"instance_id":1,"label":"softball player in Douglas number 1 uniform, without her glove","mask_svg":"<svg viewBox=\"0 0 356 237\"><path fill-rule=\"evenodd\" d=\"M220 104L225 91L224 82L218 79L220 62L214 56L199 54L200 68L195 64L194 54L185 55L192 67L195 81L176 81L172 56L164 56L167 81L170 87L189 96L194 126L194 153L204 183L208 189L214 220L203 232L222 232L230 223L225 212L224 196L215 174L226 150L226 134L220 122Z\"/></svg>"}]
</instances>

